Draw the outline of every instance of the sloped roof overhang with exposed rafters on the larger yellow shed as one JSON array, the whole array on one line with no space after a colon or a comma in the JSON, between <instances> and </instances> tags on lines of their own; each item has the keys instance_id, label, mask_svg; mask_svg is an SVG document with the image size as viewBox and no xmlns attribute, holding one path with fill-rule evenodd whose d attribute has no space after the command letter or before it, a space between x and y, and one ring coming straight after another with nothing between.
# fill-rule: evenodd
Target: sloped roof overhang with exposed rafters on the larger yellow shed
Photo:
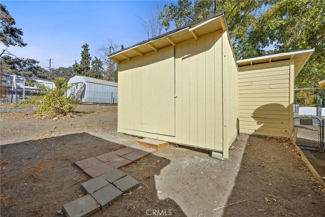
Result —
<instances>
[{"instance_id":1,"label":"sloped roof overhang with exposed rafters on the larger yellow shed","mask_svg":"<svg viewBox=\"0 0 325 217\"><path fill-rule=\"evenodd\" d=\"M225 22L224 12L213 14L204 19L192 22L188 25L171 30L168 33L155 38L143 41L131 47L110 54L108 57L119 63L120 61L131 59L136 56L143 56L145 53L158 51L159 49L176 46L176 44L189 39L198 40L201 36L216 32L218 30L228 30Z\"/></svg>"}]
</instances>

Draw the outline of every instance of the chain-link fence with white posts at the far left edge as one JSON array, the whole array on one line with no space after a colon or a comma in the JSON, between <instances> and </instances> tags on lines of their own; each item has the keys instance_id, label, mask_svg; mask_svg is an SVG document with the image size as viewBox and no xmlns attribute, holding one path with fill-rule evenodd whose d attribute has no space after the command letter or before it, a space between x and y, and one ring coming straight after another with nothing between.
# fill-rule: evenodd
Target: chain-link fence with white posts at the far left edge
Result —
<instances>
[{"instance_id":1,"label":"chain-link fence with white posts at the far left edge","mask_svg":"<svg viewBox=\"0 0 325 217\"><path fill-rule=\"evenodd\" d=\"M20 103L42 92L39 85L45 85L53 89L55 84L39 78L27 78L15 75L0 75L0 102Z\"/></svg>"}]
</instances>

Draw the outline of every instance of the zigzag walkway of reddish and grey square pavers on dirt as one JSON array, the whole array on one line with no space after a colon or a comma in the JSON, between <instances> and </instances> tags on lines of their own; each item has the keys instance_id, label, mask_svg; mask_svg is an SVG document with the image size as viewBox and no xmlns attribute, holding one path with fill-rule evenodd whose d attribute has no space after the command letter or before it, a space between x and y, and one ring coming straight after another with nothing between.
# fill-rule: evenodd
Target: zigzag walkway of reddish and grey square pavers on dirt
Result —
<instances>
[{"instance_id":1,"label":"zigzag walkway of reddish and grey square pavers on dirt","mask_svg":"<svg viewBox=\"0 0 325 217\"><path fill-rule=\"evenodd\" d=\"M123 193L137 188L140 182L118 169L132 164L156 150L134 144L75 162L74 165L92 179L81 184L81 188L88 194L64 204L63 212L68 217L90 216L121 197Z\"/></svg>"}]
</instances>

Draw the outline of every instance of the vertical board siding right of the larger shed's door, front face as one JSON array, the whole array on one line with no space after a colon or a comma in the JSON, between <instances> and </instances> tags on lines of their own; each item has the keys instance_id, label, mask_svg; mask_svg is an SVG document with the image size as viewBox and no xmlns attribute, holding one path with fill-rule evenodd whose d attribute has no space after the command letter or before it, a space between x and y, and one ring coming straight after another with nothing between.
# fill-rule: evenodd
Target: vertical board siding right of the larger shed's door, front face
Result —
<instances>
[{"instance_id":1,"label":"vertical board siding right of the larger shed's door, front face","mask_svg":"<svg viewBox=\"0 0 325 217\"><path fill-rule=\"evenodd\" d=\"M177 143L222 150L222 123L216 123L222 119L222 107L216 111L222 103L216 98L221 92L216 90L222 89L222 65L215 64L222 58L220 36L211 34L175 47Z\"/></svg>"}]
</instances>

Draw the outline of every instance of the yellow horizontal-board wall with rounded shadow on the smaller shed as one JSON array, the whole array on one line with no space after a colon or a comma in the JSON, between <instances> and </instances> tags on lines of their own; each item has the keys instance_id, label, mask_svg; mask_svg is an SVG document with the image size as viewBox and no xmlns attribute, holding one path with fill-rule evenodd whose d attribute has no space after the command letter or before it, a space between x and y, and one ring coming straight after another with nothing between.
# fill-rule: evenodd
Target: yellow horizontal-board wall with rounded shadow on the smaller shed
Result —
<instances>
[{"instance_id":1,"label":"yellow horizontal-board wall with rounded shadow on the smaller shed","mask_svg":"<svg viewBox=\"0 0 325 217\"><path fill-rule=\"evenodd\" d=\"M289 60L239 68L240 132L289 136Z\"/></svg>"}]
</instances>

